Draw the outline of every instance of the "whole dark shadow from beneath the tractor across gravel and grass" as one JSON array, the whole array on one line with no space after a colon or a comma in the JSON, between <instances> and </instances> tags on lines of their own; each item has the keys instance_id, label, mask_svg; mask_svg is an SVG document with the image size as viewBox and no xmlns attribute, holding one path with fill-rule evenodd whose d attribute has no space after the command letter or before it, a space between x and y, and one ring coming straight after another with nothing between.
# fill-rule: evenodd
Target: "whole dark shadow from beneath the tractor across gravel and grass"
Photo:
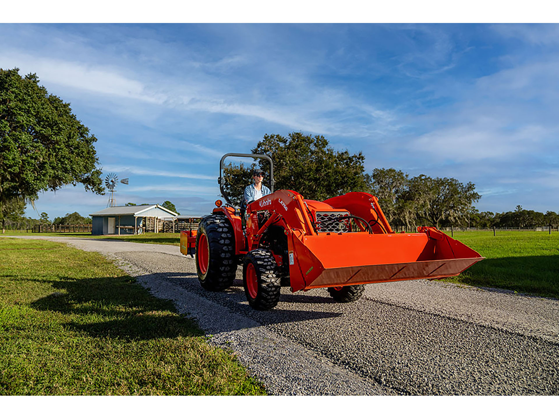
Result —
<instances>
[{"instance_id":1,"label":"whole dark shadow from beneath the tractor across gravel and grass","mask_svg":"<svg viewBox=\"0 0 559 419\"><path fill-rule=\"evenodd\" d=\"M141 275L136 278L149 286L150 283L168 283L163 289L191 294L183 309L192 315L203 317L212 323L211 331L233 331L259 325L297 323L320 320L343 315L339 304L322 296L309 294L282 294L280 304L270 311L257 311L249 307L244 291L235 282L227 292L209 292L200 287L197 275L184 272L167 272ZM44 280L41 280L44 282ZM194 320L176 313L173 301L152 296L135 279L121 277L69 278L48 280L56 290L48 296L31 303L36 310L69 315L65 326L86 332L93 337L118 337L127 340L146 340L163 337L201 336L203 332ZM166 293L166 296L169 294ZM177 296L178 297L178 296ZM200 302L216 303L211 310L196 308ZM282 307L282 303L329 304L316 309L302 310ZM304 307L304 309L303 309ZM230 318L231 317L231 318ZM234 317L234 318L233 318ZM203 322L205 324L205 322Z\"/></svg>"}]
</instances>

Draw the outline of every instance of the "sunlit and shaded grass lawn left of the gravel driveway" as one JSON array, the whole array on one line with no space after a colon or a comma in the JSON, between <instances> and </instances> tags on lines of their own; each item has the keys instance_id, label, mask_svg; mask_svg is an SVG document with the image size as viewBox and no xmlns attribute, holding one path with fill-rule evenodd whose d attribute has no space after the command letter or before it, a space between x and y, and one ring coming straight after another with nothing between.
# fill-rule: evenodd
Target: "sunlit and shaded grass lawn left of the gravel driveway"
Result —
<instances>
[{"instance_id":1,"label":"sunlit and shaded grass lawn left of the gravel driveway","mask_svg":"<svg viewBox=\"0 0 559 419\"><path fill-rule=\"evenodd\" d=\"M0 395L265 394L97 253L0 238Z\"/></svg>"}]
</instances>

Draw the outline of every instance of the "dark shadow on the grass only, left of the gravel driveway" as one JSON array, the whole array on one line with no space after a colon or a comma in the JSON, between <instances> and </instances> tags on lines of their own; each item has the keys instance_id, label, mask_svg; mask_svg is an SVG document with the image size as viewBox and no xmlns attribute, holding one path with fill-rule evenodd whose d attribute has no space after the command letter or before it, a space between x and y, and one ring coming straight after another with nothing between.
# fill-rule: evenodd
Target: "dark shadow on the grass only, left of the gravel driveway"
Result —
<instances>
[{"instance_id":1,"label":"dark shadow on the grass only, left of the gravel driveway","mask_svg":"<svg viewBox=\"0 0 559 419\"><path fill-rule=\"evenodd\" d=\"M195 321L176 313L172 301L151 296L130 277L61 278L51 284L59 291L31 307L69 315L65 326L93 337L148 340L203 335Z\"/></svg>"}]
</instances>

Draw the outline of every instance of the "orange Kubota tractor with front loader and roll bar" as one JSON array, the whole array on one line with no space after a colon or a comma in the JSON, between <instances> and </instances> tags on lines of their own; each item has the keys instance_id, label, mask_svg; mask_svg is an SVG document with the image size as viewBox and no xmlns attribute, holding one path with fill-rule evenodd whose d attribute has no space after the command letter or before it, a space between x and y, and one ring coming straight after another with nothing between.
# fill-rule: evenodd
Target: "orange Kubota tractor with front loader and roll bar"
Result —
<instances>
[{"instance_id":1,"label":"orange Kubota tractor with front loader and roll bar","mask_svg":"<svg viewBox=\"0 0 559 419\"><path fill-rule=\"evenodd\" d=\"M221 176L228 156L267 159L272 193L234 208ZM434 227L396 233L378 205L364 192L313 201L295 191L274 192L273 163L266 155L228 153L218 179L228 204L216 201L197 231L181 232L181 252L195 255L203 288L222 291L243 265L243 285L251 307L269 310L280 288L292 292L328 288L339 302L355 301L364 284L458 275L484 259Z\"/></svg>"}]
</instances>

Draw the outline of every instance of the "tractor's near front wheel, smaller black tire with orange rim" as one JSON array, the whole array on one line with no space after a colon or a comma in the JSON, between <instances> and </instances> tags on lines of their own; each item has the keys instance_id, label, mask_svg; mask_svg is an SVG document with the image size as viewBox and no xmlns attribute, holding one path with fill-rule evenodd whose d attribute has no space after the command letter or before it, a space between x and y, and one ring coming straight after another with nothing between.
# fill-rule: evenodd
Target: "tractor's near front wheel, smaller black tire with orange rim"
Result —
<instances>
[{"instance_id":1,"label":"tractor's near front wheel, smaller black tire with orange rim","mask_svg":"<svg viewBox=\"0 0 559 419\"><path fill-rule=\"evenodd\" d=\"M280 281L271 251L257 249L247 253L243 262L243 285L250 307L256 310L276 307L280 301Z\"/></svg>"}]
</instances>

